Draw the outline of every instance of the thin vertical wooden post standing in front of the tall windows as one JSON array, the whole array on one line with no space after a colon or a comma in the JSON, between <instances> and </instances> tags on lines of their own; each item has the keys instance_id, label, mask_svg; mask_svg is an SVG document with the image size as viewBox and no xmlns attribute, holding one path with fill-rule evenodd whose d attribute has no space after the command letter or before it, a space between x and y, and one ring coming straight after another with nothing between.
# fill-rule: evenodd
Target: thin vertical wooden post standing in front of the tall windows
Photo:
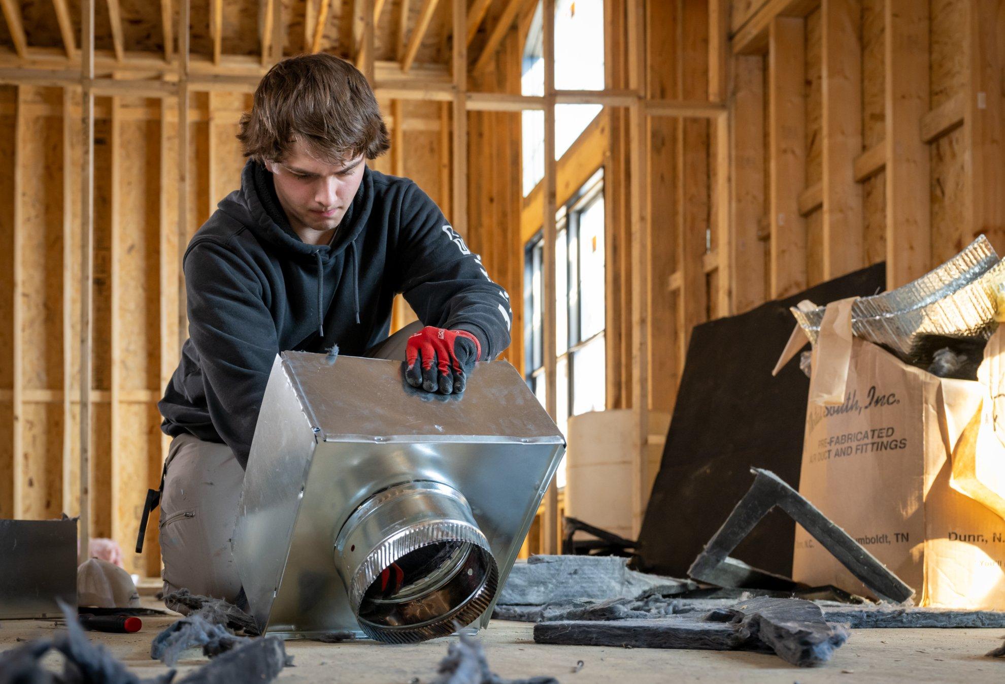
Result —
<instances>
[{"instance_id":1,"label":"thin vertical wooden post standing in front of the tall windows","mask_svg":"<svg viewBox=\"0 0 1005 684\"><path fill-rule=\"evenodd\" d=\"M556 422L562 417L558 414L558 378L557 378L557 316L555 310L558 284L555 274L555 0L544 2L544 60L545 60L545 177L544 202L542 209L542 225L544 226L544 305L542 325L544 326L544 356L545 356L545 408ZM513 3L511 3L513 4ZM509 6L508 8L509 9ZM564 287L564 284L563 284ZM563 312L565 315L565 312ZM544 552L559 552L559 486L553 479L545 495L544 515Z\"/></svg>"}]
</instances>

